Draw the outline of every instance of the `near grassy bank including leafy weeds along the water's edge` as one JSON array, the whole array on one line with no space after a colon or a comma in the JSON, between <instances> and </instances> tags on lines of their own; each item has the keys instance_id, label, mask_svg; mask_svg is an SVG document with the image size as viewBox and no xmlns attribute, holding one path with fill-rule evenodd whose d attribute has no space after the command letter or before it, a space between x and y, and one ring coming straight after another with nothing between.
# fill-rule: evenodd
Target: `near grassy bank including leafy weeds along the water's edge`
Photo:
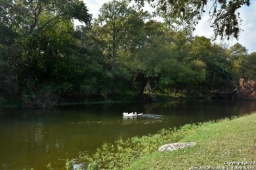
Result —
<instances>
[{"instance_id":1,"label":"near grassy bank including leafy weeds along the water's edge","mask_svg":"<svg viewBox=\"0 0 256 170\"><path fill-rule=\"evenodd\" d=\"M80 153L81 169L196 169L197 167L256 168L229 165L231 161L256 161L256 112L198 124L161 129L154 135L105 143L93 155ZM172 152L158 152L167 143L195 142ZM66 160L72 169L74 160Z\"/></svg>"}]
</instances>

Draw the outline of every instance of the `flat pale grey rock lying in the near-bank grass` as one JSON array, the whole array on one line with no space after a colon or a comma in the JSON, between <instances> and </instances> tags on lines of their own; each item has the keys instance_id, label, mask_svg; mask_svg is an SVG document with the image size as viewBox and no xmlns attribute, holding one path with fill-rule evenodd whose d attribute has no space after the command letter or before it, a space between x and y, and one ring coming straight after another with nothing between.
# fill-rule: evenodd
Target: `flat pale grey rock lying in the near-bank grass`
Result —
<instances>
[{"instance_id":1,"label":"flat pale grey rock lying in the near-bank grass","mask_svg":"<svg viewBox=\"0 0 256 170\"><path fill-rule=\"evenodd\" d=\"M168 143L168 144L164 144L163 146L158 148L158 151L159 152L169 152L169 151L185 148L188 146L195 146L195 145L196 145L196 143L194 143L194 142L192 142L192 143Z\"/></svg>"}]
</instances>

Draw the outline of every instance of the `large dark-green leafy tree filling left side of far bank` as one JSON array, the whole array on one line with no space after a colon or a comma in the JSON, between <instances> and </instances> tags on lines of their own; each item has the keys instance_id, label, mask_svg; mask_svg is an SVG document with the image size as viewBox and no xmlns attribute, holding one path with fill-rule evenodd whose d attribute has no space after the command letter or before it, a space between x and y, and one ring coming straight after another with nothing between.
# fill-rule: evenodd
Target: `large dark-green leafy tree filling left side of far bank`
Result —
<instances>
[{"instance_id":1,"label":"large dark-green leafy tree filling left side of far bank","mask_svg":"<svg viewBox=\"0 0 256 170\"><path fill-rule=\"evenodd\" d=\"M83 1L3 0L0 19L1 94L12 88L24 105L47 107L99 93L100 52ZM74 19L85 26L75 30Z\"/></svg>"}]
</instances>

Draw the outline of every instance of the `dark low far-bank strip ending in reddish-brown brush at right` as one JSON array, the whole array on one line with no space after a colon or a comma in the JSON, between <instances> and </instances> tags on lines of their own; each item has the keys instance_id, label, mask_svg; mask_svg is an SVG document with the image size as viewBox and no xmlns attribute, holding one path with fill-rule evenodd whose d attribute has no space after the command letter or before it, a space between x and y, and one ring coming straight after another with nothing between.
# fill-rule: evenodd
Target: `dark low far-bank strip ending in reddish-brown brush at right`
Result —
<instances>
[{"instance_id":1,"label":"dark low far-bank strip ending in reddish-brown brush at right","mask_svg":"<svg viewBox=\"0 0 256 170\"><path fill-rule=\"evenodd\" d=\"M23 107L30 109L51 109L55 107L72 106L72 105L93 105L93 104L109 104L123 102L155 102L155 101L171 101L173 99L240 99L240 100L256 100L256 81L240 78L239 86L232 92L207 92L207 93L142 93L140 95L133 93L132 95L112 95L103 97L100 95L78 99L77 101L68 101L54 97L51 93L41 92L39 95L24 95L20 97L1 97L0 107Z\"/></svg>"}]
</instances>

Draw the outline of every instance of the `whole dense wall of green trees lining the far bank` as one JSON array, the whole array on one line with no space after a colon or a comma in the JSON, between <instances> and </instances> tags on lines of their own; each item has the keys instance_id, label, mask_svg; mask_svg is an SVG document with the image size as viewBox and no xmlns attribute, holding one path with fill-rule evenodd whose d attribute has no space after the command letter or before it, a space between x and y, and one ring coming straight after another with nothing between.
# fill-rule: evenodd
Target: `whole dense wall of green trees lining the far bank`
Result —
<instances>
[{"instance_id":1,"label":"whole dense wall of green trees lining the far bank","mask_svg":"<svg viewBox=\"0 0 256 170\"><path fill-rule=\"evenodd\" d=\"M2 0L0 105L205 97L255 80L255 53L241 44L226 48L151 17L128 1L105 3L92 21L79 0Z\"/></svg>"}]
</instances>

